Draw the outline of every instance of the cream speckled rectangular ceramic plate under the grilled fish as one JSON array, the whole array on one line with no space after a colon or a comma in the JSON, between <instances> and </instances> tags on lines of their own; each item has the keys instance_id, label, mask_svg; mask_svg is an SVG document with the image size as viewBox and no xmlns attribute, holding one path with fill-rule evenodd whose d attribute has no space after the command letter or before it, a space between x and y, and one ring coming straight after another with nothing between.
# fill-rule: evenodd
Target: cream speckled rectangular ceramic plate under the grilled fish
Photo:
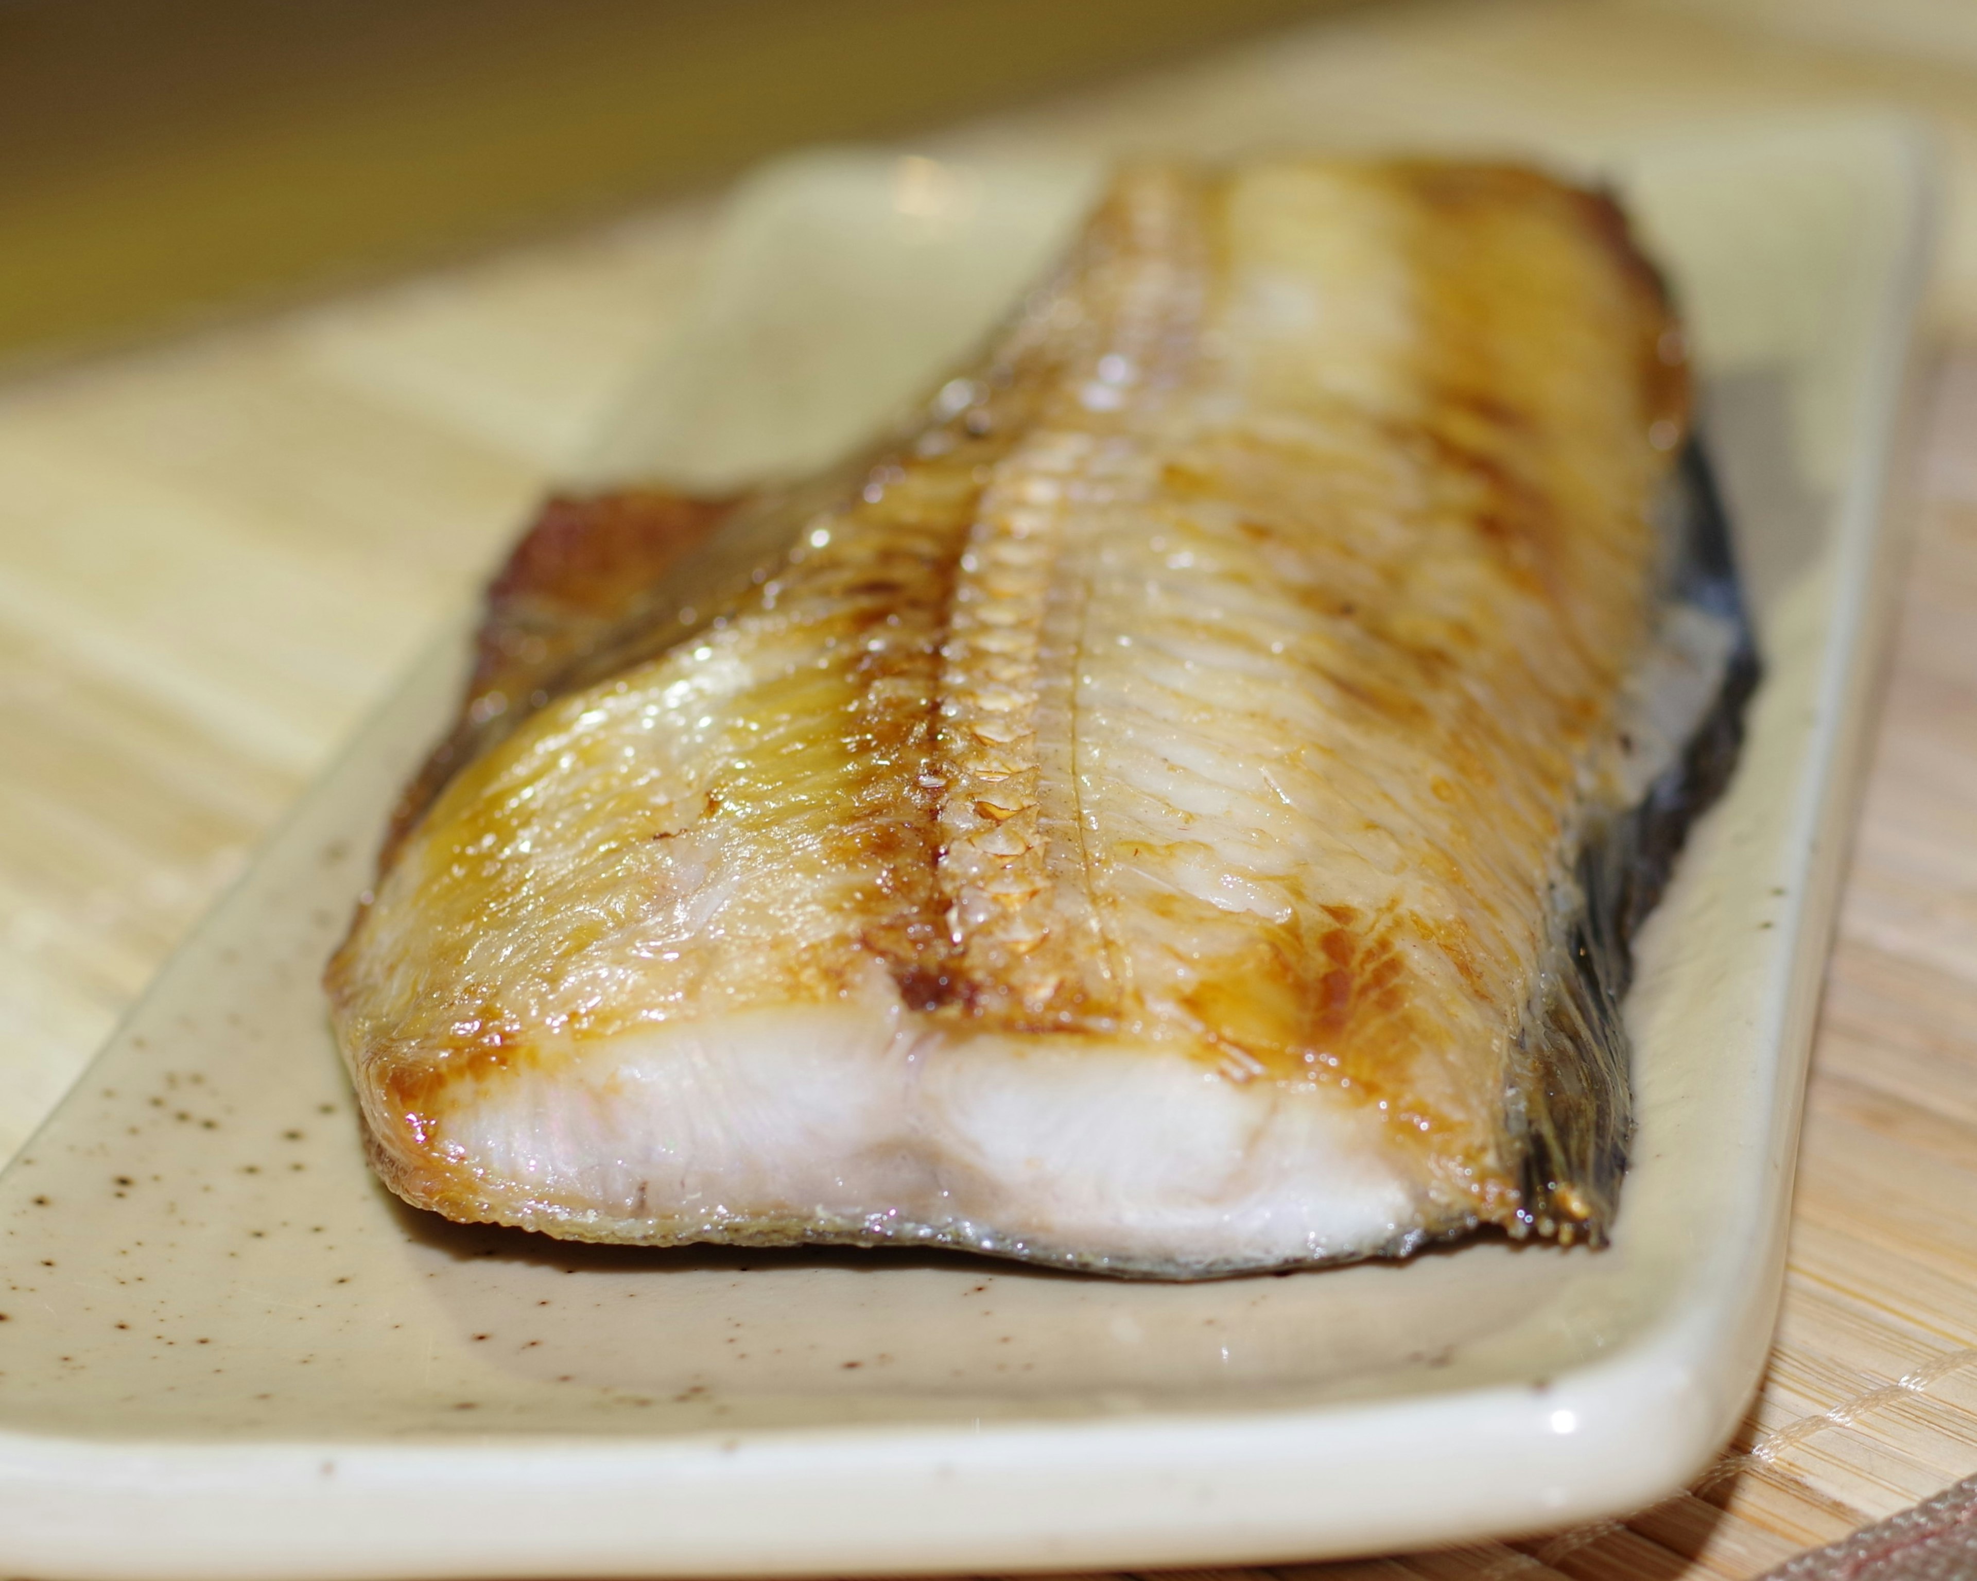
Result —
<instances>
[{"instance_id":1,"label":"cream speckled rectangular ceramic plate under the grilled fish","mask_svg":"<svg viewBox=\"0 0 1977 1581\"><path fill-rule=\"evenodd\" d=\"M453 700L449 638L0 1180L0 1569L1137 1567L1675 1488L1736 1423L1775 1314L1928 196L1882 123L1609 168L1696 328L1769 662L1643 939L1611 1249L1176 1287L579 1249L401 1209L366 1172L316 974ZM708 480L852 437L987 322L1079 180L878 156L757 180L694 336L595 470Z\"/></svg>"}]
</instances>

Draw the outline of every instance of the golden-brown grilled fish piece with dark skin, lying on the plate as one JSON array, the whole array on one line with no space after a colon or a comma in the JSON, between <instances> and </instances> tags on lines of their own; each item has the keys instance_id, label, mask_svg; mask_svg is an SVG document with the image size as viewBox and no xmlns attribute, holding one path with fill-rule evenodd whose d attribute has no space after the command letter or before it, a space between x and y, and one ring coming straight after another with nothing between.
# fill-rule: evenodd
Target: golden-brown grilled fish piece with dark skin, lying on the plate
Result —
<instances>
[{"instance_id":1,"label":"golden-brown grilled fish piece with dark skin, lying on the plate","mask_svg":"<svg viewBox=\"0 0 1977 1581\"><path fill-rule=\"evenodd\" d=\"M1756 658L1605 198L1121 176L919 427L554 502L330 962L407 1202L1115 1275L1601 1241Z\"/></svg>"}]
</instances>

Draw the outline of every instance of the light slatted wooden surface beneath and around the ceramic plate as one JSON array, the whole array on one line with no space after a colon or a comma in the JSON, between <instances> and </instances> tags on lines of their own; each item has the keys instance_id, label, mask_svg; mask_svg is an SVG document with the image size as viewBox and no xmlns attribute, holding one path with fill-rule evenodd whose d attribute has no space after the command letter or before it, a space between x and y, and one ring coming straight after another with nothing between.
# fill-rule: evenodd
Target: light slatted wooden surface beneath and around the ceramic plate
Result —
<instances>
[{"instance_id":1,"label":"light slatted wooden surface beneath and around the ceramic plate","mask_svg":"<svg viewBox=\"0 0 1977 1581\"><path fill-rule=\"evenodd\" d=\"M1593 144L1860 103L1943 136L1941 362L1769 1377L1625 1524L1313 1575L1748 1577L1977 1472L1977 6L1423 0L933 140ZM471 597L710 215L0 389L0 1152Z\"/></svg>"}]
</instances>

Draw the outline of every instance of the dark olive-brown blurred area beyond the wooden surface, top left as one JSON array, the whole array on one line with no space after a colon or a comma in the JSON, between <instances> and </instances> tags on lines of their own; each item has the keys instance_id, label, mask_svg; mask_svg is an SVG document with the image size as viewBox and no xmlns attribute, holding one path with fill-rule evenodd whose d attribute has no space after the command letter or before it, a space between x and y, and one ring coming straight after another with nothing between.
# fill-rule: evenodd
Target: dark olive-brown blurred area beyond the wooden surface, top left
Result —
<instances>
[{"instance_id":1,"label":"dark olive-brown blurred area beyond the wooden surface, top left","mask_svg":"<svg viewBox=\"0 0 1977 1581\"><path fill-rule=\"evenodd\" d=\"M8 0L0 360L951 123L1340 0Z\"/></svg>"}]
</instances>

